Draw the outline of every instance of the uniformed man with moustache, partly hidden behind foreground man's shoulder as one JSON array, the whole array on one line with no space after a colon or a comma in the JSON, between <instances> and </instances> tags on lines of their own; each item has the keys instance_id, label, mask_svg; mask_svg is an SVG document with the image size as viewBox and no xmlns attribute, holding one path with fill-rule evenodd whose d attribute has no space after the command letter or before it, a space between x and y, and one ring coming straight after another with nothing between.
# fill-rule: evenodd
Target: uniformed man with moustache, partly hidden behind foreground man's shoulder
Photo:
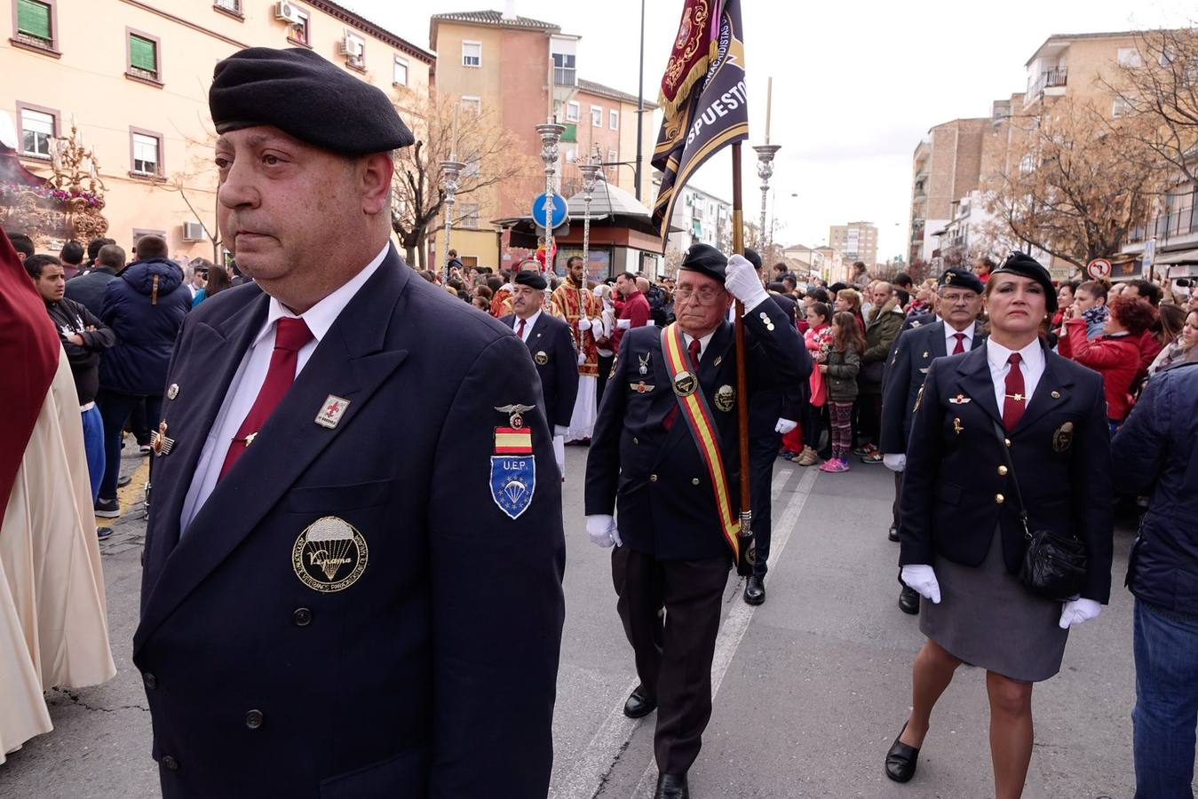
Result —
<instances>
[{"instance_id":1,"label":"uniformed man with moustache, partly hidden behind foreground man's shoulder","mask_svg":"<svg viewBox=\"0 0 1198 799\"><path fill-rule=\"evenodd\" d=\"M545 307L545 276L539 271L516 272L512 285L513 314L500 320L515 331L525 344L540 376L545 419L553 426L553 458L565 479L565 436L579 393L577 359L570 327L550 316Z\"/></svg>"}]
</instances>

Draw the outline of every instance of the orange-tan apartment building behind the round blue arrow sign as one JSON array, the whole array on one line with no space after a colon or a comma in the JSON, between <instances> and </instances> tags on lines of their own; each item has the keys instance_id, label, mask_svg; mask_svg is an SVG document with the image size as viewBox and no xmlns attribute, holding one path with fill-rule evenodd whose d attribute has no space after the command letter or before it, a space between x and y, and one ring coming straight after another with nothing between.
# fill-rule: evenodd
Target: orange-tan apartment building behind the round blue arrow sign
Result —
<instances>
[{"instance_id":1,"label":"orange-tan apartment building behind the round blue arrow sign","mask_svg":"<svg viewBox=\"0 0 1198 799\"><path fill-rule=\"evenodd\" d=\"M533 198L545 190L540 138L534 129L545 121L565 126L556 190L567 196L580 190L576 164L597 153L606 164L604 177L635 194L636 97L579 78L579 40L559 25L513 13L510 5L503 12L434 14L430 20L429 48L438 54L434 90L442 97L459 97L464 107L495 114L515 137L519 152L534 158L538 167L470 195L476 226L455 224L452 238L467 264L510 268L528 254L510 247L508 235L490 220L527 216ZM643 200L649 201L648 162L657 134L652 111L657 107L646 102L645 108L641 186ZM432 247L440 252L435 242Z\"/></svg>"}]
</instances>

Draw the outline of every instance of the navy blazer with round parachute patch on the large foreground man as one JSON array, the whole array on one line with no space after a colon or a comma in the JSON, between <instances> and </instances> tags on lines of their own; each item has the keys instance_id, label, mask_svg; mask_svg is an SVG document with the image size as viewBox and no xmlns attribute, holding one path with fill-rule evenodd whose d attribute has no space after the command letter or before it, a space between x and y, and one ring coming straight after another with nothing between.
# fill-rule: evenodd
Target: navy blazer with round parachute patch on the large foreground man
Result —
<instances>
[{"instance_id":1,"label":"navy blazer with round parachute patch on the large foreground man","mask_svg":"<svg viewBox=\"0 0 1198 799\"><path fill-rule=\"evenodd\" d=\"M538 411L531 504L513 520L490 489L496 408L537 405L528 353L392 248L180 537L267 305L253 284L204 302L169 368L133 641L163 795L544 797L564 541ZM326 516L368 547L341 591L292 561Z\"/></svg>"}]
</instances>

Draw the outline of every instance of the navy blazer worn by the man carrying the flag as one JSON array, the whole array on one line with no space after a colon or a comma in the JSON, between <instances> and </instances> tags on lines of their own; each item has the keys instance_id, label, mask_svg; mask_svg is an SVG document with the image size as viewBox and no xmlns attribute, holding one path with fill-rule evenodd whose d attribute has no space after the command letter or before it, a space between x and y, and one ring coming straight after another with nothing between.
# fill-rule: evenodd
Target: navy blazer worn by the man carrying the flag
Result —
<instances>
[{"instance_id":1,"label":"navy blazer worn by the man carrying the flag","mask_svg":"<svg viewBox=\"0 0 1198 799\"><path fill-rule=\"evenodd\" d=\"M750 394L810 376L811 359L803 339L775 303L763 302L745 315L745 339ZM720 436L733 513L739 508L740 479L737 402L743 400L734 395L736 375L733 327L724 321L703 351L698 383ZM716 404L718 392L724 397L731 392L732 402ZM637 552L661 559L731 557L712 479L690 429L682 418L676 418L670 430L662 424L677 406L661 352L661 328L628 331L591 437L586 513L611 514L618 508L624 546Z\"/></svg>"}]
</instances>

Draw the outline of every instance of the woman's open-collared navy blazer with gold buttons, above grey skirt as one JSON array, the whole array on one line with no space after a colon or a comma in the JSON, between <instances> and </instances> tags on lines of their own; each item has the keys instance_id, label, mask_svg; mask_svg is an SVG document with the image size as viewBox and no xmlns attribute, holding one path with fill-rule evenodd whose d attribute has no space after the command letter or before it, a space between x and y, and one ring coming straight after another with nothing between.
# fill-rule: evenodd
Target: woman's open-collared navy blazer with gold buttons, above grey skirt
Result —
<instances>
[{"instance_id":1,"label":"woman's open-collared navy blazer with gold buttons, above grey skirt","mask_svg":"<svg viewBox=\"0 0 1198 799\"><path fill-rule=\"evenodd\" d=\"M1041 344L1042 346L1042 344ZM937 358L927 371L907 447L900 498L900 564L968 567L986 559L996 528L1016 574L1023 559L1011 474L994 431L1002 413L986 361L988 344ZM1006 434L1033 531L1072 533L1089 565L1082 597L1111 597L1113 521L1111 430L1102 377L1045 349L1045 374Z\"/></svg>"}]
</instances>

